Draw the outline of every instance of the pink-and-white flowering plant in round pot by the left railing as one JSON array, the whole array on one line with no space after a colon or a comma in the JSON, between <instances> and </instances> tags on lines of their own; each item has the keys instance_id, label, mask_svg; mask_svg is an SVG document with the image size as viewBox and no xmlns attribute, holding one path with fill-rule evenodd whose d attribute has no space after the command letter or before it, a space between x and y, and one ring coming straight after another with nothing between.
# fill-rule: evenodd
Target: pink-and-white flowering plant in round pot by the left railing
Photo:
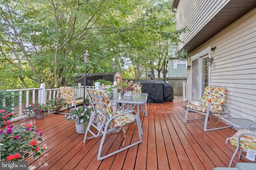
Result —
<instances>
[{"instance_id":1,"label":"pink-and-white flowering plant in round pot by the left railing","mask_svg":"<svg viewBox=\"0 0 256 170\"><path fill-rule=\"evenodd\" d=\"M30 116L31 114L35 114L36 119L42 119L44 116L48 115L49 107L46 104L33 103L26 107L22 113L24 115Z\"/></svg>"}]
</instances>

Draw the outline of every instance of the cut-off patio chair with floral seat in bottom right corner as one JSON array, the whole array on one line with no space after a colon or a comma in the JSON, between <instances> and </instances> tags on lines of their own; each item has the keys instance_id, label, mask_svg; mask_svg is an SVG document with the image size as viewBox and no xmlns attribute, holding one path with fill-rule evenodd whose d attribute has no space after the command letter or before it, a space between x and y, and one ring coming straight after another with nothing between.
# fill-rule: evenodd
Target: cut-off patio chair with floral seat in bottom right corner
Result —
<instances>
[{"instance_id":1,"label":"cut-off patio chair with floral seat in bottom right corner","mask_svg":"<svg viewBox=\"0 0 256 170\"><path fill-rule=\"evenodd\" d=\"M236 147L236 150L230 160L229 167L231 167L238 150L240 150L238 159L241 157L246 158L246 156L242 155L242 152L247 152L248 149L256 151L256 132L250 130L250 126L255 123L256 122L251 123L248 126L248 129L240 129L233 135L233 137L230 137L226 140L226 143L228 143L228 140L230 139L230 143ZM239 145L237 145L238 143ZM254 156L254 162L255 161L256 160Z\"/></svg>"}]
</instances>

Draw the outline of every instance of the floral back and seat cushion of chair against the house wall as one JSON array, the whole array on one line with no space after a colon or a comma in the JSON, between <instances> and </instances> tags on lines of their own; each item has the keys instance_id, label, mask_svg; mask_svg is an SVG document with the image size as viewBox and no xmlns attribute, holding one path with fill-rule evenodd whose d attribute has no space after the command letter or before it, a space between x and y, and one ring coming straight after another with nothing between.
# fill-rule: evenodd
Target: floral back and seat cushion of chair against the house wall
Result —
<instances>
[{"instance_id":1,"label":"floral back and seat cushion of chair against the house wall","mask_svg":"<svg viewBox=\"0 0 256 170\"><path fill-rule=\"evenodd\" d=\"M224 104L225 98L228 94L228 90L224 87L205 87L204 94L200 105L188 105L187 108L197 111L207 112L207 106L209 104ZM222 106L210 105L210 113L221 113Z\"/></svg>"}]
</instances>

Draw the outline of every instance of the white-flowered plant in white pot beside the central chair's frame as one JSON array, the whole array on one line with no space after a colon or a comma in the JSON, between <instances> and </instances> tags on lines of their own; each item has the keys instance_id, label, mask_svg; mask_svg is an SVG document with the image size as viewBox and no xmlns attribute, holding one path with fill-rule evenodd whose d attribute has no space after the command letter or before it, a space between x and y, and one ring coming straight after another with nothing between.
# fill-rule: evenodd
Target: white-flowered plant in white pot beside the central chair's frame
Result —
<instances>
[{"instance_id":1,"label":"white-flowered plant in white pot beside the central chair's frame","mask_svg":"<svg viewBox=\"0 0 256 170\"><path fill-rule=\"evenodd\" d=\"M92 106L90 105L85 105L84 107L78 106L70 109L69 115L65 115L65 119L75 121L77 133L85 133L90 120L91 112Z\"/></svg>"}]
</instances>

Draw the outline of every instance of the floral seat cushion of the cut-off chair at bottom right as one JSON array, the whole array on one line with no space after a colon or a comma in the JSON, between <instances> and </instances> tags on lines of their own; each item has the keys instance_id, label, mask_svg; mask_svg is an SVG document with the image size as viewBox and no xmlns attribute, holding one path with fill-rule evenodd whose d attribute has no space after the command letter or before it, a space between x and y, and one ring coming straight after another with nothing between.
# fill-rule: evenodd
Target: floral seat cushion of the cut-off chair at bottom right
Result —
<instances>
[{"instance_id":1,"label":"floral seat cushion of the cut-off chair at bottom right","mask_svg":"<svg viewBox=\"0 0 256 170\"><path fill-rule=\"evenodd\" d=\"M238 136L244 132L255 133L248 129L240 129L233 137L230 138L230 143L236 147ZM239 148L244 151L247 151L248 149L256 150L256 137L252 135L242 135L240 138Z\"/></svg>"}]
</instances>

